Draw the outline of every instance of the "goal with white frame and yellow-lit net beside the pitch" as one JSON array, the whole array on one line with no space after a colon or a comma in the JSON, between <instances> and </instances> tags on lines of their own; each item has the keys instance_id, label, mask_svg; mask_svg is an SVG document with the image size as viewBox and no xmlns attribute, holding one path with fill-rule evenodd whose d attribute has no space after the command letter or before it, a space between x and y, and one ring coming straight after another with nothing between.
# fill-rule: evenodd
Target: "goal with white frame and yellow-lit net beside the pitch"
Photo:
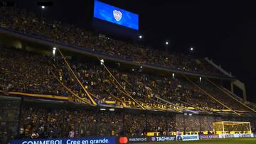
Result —
<instances>
[{"instance_id":1,"label":"goal with white frame and yellow-lit net beside the pitch","mask_svg":"<svg viewBox=\"0 0 256 144\"><path fill-rule=\"evenodd\" d=\"M239 121L219 121L213 122L213 131L215 134L236 134L236 133L247 133L251 134L250 122L239 122Z\"/></svg>"}]
</instances>

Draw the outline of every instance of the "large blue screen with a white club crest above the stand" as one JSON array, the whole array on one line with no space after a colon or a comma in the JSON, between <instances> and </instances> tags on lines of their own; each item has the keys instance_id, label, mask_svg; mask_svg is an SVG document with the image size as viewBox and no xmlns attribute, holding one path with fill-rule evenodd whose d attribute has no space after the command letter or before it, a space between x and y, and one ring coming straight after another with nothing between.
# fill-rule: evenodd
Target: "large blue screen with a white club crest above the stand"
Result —
<instances>
[{"instance_id":1,"label":"large blue screen with a white club crest above the stand","mask_svg":"<svg viewBox=\"0 0 256 144\"><path fill-rule=\"evenodd\" d=\"M135 13L95 0L93 14L95 18L139 30L139 16Z\"/></svg>"}]
</instances>

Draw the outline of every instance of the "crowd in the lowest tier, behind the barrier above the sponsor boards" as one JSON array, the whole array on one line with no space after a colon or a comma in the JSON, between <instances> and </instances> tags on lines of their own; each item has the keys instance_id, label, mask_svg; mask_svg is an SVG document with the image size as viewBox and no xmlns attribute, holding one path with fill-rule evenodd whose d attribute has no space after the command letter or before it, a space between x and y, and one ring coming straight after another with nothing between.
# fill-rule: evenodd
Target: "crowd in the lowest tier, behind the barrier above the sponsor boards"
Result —
<instances>
[{"instance_id":1,"label":"crowd in the lowest tier, behind the barrier above the sponsor boards","mask_svg":"<svg viewBox=\"0 0 256 144\"><path fill-rule=\"evenodd\" d=\"M142 136L147 132L213 133L213 122L221 116L185 116L168 113L132 113L65 108L23 108L20 138L80 138L87 136ZM255 121L252 121L254 131ZM239 130L238 130L239 131Z\"/></svg>"}]
</instances>

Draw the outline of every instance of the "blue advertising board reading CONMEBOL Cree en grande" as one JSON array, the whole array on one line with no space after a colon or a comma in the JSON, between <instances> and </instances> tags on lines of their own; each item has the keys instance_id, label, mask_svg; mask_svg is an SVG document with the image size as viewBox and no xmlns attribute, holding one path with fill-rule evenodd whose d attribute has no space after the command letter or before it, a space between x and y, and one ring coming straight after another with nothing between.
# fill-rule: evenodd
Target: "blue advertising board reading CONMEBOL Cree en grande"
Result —
<instances>
[{"instance_id":1,"label":"blue advertising board reading CONMEBOL Cree en grande","mask_svg":"<svg viewBox=\"0 0 256 144\"><path fill-rule=\"evenodd\" d=\"M11 140L11 144L115 144L114 137Z\"/></svg>"}]
</instances>

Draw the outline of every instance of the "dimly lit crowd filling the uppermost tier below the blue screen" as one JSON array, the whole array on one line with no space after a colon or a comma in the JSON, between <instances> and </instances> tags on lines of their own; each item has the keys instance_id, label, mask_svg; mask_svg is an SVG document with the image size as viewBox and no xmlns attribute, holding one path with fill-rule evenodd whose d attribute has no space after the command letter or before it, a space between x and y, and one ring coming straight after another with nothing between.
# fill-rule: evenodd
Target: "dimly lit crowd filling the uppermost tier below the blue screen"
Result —
<instances>
[{"instance_id":1,"label":"dimly lit crowd filling the uppermost tier below the blue screen","mask_svg":"<svg viewBox=\"0 0 256 144\"><path fill-rule=\"evenodd\" d=\"M78 45L91 51L104 52L142 64L164 66L188 72L223 75L205 60L197 60L189 55L168 54L144 45L135 45L121 40L107 38L60 21L38 18L34 13L15 7L0 8L0 27L22 33L39 35L66 45ZM161 55L161 57L159 57Z\"/></svg>"}]
</instances>

